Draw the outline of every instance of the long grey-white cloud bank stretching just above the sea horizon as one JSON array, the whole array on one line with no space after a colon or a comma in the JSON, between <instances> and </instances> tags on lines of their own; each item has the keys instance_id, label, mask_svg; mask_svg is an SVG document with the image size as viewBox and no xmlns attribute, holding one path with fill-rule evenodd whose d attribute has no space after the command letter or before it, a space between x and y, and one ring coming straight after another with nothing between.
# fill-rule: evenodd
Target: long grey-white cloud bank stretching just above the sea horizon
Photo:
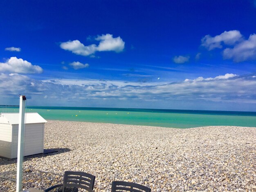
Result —
<instances>
[{"instance_id":1,"label":"long grey-white cloud bank stretching just above the sea horizon","mask_svg":"<svg viewBox=\"0 0 256 192\"><path fill-rule=\"evenodd\" d=\"M76 82L76 83L74 83ZM22 86L20 86L22 84ZM6 87L6 85L9 85ZM143 100L143 101L211 101L256 104L255 75L225 74L216 77L199 77L193 80L168 84L139 85L115 81L79 80L65 83L61 80L35 80L20 74L0 74L0 93L18 95L21 92L32 98L46 96L52 100Z\"/></svg>"}]
</instances>

